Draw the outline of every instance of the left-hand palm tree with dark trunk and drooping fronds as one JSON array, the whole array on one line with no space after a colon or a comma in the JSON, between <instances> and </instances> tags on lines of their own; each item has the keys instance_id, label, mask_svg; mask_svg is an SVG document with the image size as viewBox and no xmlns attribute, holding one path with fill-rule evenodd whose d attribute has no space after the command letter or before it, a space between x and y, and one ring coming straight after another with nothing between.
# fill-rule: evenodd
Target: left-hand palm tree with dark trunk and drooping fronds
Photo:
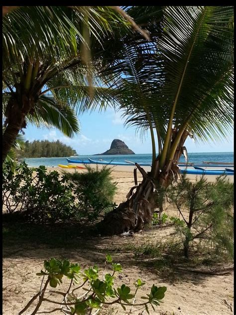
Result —
<instances>
[{"instance_id":1,"label":"left-hand palm tree with dark trunk and drooping fronds","mask_svg":"<svg viewBox=\"0 0 236 315\"><path fill-rule=\"evenodd\" d=\"M117 26L130 23L108 6L25 6L3 16L3 161L27 122L79 132L78 95L87 99L93 84L95 100L106 93L91 75L90 43L101 50Z\"/></svg>"}]
</instances>

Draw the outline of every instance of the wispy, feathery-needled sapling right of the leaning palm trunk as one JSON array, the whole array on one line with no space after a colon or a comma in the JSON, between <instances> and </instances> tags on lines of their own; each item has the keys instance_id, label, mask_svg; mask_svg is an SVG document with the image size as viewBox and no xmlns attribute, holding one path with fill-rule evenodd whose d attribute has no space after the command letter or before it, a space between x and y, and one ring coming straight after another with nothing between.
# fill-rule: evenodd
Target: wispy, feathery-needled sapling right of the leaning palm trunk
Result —
<instances>
[{"instance_id":1,"label":"wispy, feathery-needled sapling right of the leaning palm trunk","mask_svg":"<svg viewBox=\"0 0 236 315\"><path fill-rule=\"evenodd\" d=\"M211 183L204 176L191 181L183 175L177 185L169 187L168 197L181 215L181 219L171 218L171 221L183 240L186 257L190 245L208 246L233 257L234 184L226 176Z\"/></svg>"}]
</instances>

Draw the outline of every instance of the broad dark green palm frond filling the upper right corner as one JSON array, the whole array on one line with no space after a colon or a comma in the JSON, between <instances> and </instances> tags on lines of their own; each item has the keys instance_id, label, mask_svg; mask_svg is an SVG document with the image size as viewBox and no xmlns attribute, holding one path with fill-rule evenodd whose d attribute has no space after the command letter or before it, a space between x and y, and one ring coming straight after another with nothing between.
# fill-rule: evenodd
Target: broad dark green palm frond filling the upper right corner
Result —
<instances>
[{"instance_id":1,"label":"broad dark green palm frond filling the upper right corner","mask_svg":"<svg viewBox=\"0 0 236 315\"><path fill-rule=\"evenodd\" d=\"M160 98L165 96L169 113L175 106L176 126L188 118L189 128L202 139L224 137L233 121L233 77L228 75L234 61L233 12L230 6L164 10L157 43L164 76Z\"/></svg>"}]
</instances>

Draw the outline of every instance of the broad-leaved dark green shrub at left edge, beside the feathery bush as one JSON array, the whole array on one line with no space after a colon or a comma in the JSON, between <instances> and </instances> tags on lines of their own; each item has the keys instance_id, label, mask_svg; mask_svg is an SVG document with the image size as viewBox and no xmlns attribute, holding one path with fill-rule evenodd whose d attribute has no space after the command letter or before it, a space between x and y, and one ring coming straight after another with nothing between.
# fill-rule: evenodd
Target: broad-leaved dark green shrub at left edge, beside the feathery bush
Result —
<instances>
[{"instance_id":1,"label":"broad-leaved dark green shrub at left edge, beside the feathery bush","mask_svg":"<svg viewBox=\"0 0 236 315\"><path fill-rule=\"evenodd\" d=\"M33 175L33 172L36 175ZM47 173L45 166L29 168L25 162L16 172L3 171L3 203L9 213L17 210L28 221L56 222L73 216L72 185L62 183L57 171ZM8 198L6 197L8 193Z\"/></svg>"}]
</instances>

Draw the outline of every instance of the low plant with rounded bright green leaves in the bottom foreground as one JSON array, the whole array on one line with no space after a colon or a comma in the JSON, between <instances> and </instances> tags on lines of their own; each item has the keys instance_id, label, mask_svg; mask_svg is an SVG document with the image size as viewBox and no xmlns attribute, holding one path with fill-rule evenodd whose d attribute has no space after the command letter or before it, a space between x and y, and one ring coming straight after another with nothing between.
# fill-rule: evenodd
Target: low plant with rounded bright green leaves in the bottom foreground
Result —
<instances>
[{"instance_id":1,"label":"low plant with rounded bright green leaves in the bottom foreground","mask_svg":"<svg viewBox=\"0 0 236 315\"><path fill-rule=\"evenodd\" d=\"M99 278L99 268L97 266L94 266L93 268L88 268L86 270L81 271L81 268L78 264L72 264L69 260L65 259L63 261L50 258L49 260L44 261L44 270L41 270L40 273L37 273L38 276L43 276L41 288L44 284L44 290L40 291L40 300L41 303L44 301L44 295L46 287L49 285L52 288L56 288L57 286L60 286L60 284L63 283L64 278L70 279L70 286L67 290L67 293L64 294L60 291L51 291L54 294L63 295L63 307L64 311L66 310L67 314L79 314L79 315L86 315L86 314L92 314L93 310L102 309L103 305L113 305L118 304L120 305L124 310L125 306L133 306L135 304L134 300L136 298L137 291L144 286L144 282L141 281L141 279L137 279L137 281L134 283L136 287L136 291L134 294L131 294L131 289L126 286L125 284L122 284L119 288L114 288L114 280L115 280L115 273L116 271L114 268L114 265L120 266L120 264L112 263L112 257L111 255L107 255L106 262L105 262L105 268L107 264L112 264L113 266L113 276L111 274L106 274L105 277L103 276L103 279L101 280ZM103 271L103 275L105 272L105 268ZM121 269L121 266L120 268ZM79 284L79 280L82 279L82 284L75 287L72 285ZM80 288L84 289L86 291L85 294L79 296L78 293L76 293L77 290ZM41 290L41 289L40 289ZM142 306L145 308L145 310L148 312L148 306L150 305L153 310L155 311L154 306L160 305L161 300L163 300L166 292L166 287L157 287L153 284L150 294L147 294L146 296L142 297L142 299L147 300L146 302L139 303L139 306ZM111 300L112 299L112 300ZM133 300L133 303L131 303L131 299ZM45 299L47 300L47 299ZM20 314L25 312L32 302L34 301L34 298L32 298L27 306L24 308L24 310L21 311ZM48 301L48 300L47 300ZM68 302L70 301L70 302ZM49 301L48 301L49 302ZM38 307L41 306L40 301L38 302ZM50 300L51 304L56 304L57 301ZM131 309L130 309L131 311ZM62 310L63 312L63 310ZM65 312L63 312L65 313Z\"/></svg>"}]
</instances>

